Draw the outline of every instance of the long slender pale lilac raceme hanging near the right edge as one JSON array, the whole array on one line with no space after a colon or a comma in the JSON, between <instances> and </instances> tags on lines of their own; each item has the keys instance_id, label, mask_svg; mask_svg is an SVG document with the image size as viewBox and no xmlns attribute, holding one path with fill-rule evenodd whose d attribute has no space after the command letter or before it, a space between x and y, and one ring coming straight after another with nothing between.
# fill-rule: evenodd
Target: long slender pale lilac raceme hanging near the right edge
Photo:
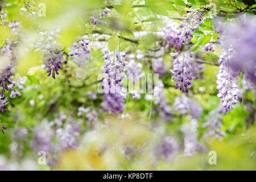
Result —
<instances>
[{"instance_id":1,"label":"long slender pale lilac raceme hanging near the right edge","mask_svg":"<svg viewBox=\"0 0 256 182\"><path fill-rule=\"evenodd\" d=\"M232 57L232 54L232 49L229 50L229 53L224 51L218 60L220 67L216 81L218 89L217 96L221 98L218 110L222 114L229 113L233 109L233 105L238 104L238 75L233 69L229 68L229 59Z\"/></svg>"}]
</instances>

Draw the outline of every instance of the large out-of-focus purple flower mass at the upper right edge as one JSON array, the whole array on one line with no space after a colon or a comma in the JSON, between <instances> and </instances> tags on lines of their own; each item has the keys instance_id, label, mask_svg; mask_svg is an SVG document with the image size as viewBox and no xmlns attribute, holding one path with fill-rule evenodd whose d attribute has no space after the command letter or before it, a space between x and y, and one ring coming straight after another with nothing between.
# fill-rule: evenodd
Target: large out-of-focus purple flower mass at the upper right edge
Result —
<instances>
[{"instance_id":1,"label":"large out-of-focus purple flower mass at the upper right edge","mask_svg":"<svg viewBox=\"0 0 256 182\"><path fill-rule=\"evenodd\" d=\"M230 58L230 68L242 72L253 84L256 84L256 19L254 16L238 16L238 20L226 24L221 37L222 47L233 48L235 55ZM241 61L243 60L243 61Z\"/></svg>"}]
</instances>

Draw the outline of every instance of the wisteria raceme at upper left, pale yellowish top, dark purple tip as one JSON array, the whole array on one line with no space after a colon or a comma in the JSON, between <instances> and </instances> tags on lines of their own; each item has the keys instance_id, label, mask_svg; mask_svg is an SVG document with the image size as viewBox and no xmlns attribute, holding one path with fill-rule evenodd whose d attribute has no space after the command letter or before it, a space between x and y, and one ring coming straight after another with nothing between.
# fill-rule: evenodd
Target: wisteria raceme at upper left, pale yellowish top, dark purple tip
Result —
<instances>
[{"instance_id":1,"label":"wisteria raceme at upper left, pale yellowish top, dark purple tip","mask_svg":"<svg viewBox=\"0 0 256 182\"><path fill-rule=\"evenodd\" d=\"M63 46L57 42L60 30L56 28L53 31L40 32L39 41L33 45L36 51L42 51L42 60L47 68L47 76L55 79L55 74L59 75L59 69L62 67Z\"/></svg>"}]
</instances>

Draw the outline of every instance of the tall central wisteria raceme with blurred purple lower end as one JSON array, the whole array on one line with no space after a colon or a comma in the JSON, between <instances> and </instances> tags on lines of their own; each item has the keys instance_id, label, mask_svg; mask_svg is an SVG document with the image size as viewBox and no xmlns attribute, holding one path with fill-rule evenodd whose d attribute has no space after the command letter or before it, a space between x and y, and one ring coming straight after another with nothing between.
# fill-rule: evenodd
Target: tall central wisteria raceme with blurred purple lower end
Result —
<instances>
[{"instance_id":1,"label":"tall central wisteria raceme with blurred purple lower end","mask_svg":"<svg viewBox=\"0 0 256 182\"><path fill-rule=\"evenodd\" d=\"M108 110L109 113L118 114L122 113L125 109L126 90L122 88L123 78L125 78L125 70L127 62L125 55L119 53L105 52L102 59L105 59L105 67L102 69L104 72L104 80L102 86L104 87L104 102L102 107Z\"/></svg>"}]
</instances>

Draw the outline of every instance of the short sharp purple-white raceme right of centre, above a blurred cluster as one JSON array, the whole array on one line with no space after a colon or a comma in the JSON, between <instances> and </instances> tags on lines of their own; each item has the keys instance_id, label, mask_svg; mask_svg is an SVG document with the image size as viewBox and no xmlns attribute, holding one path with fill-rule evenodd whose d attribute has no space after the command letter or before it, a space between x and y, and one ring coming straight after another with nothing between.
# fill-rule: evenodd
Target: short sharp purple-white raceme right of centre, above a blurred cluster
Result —
<instances>
[{"instance_id":1,"label":"short sharp purple-white raceme right of centre, above a blurred cluster","mask_svg":"<svg viewBox=\"0 0 256 182\"><path fill-rule=\"evenodd\" d=\"M192 55L185 52L179 56L174 56L173 69L170 71L174 73L172 81L175 83L175 89L179 88L183 92L188 92L188 89L193 86L193 68L192 68Z\"/></svg>"}]
</instances>

